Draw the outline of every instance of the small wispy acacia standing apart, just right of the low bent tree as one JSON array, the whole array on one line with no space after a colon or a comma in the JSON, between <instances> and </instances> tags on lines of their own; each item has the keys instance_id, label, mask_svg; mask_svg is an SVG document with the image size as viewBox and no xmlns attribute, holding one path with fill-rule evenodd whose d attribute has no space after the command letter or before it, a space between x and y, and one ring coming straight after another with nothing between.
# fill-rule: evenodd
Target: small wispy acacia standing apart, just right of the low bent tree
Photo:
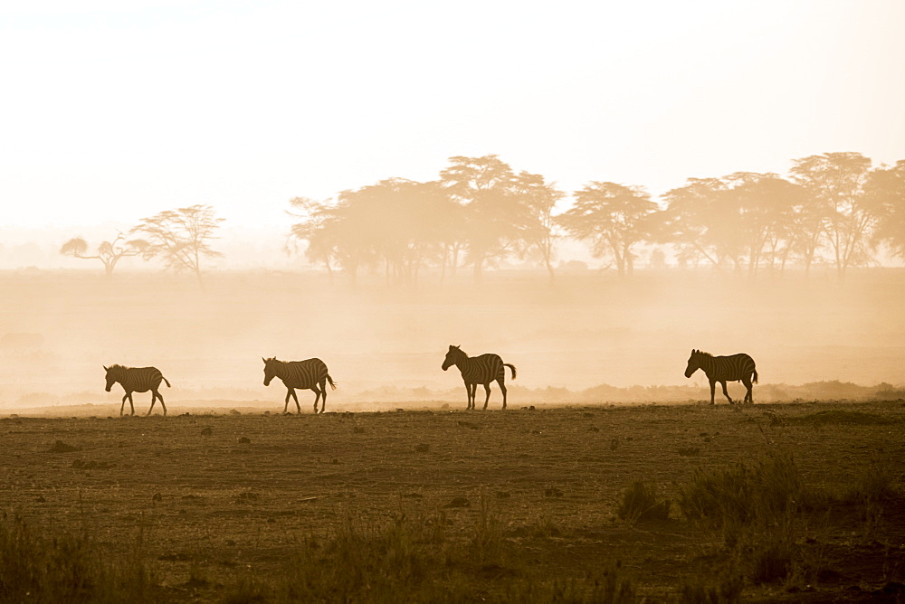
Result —
<instances>
[{"instance_id":1,"label":"small wispy acacia standing apart, just right of the low bent tree","mask_svg":"<svg viewBox=\"0 0 905 604\"><path fill-rule=\"evenodd\" d=\"M142 219L130 232L144 236L140 241L146 260L160 257L167 269L176 272L187 270L204 287L201 259L205 256L223 256L210 246L223 221L214 215L211 206L197 204Z\"/></svg>"}]
</instances>

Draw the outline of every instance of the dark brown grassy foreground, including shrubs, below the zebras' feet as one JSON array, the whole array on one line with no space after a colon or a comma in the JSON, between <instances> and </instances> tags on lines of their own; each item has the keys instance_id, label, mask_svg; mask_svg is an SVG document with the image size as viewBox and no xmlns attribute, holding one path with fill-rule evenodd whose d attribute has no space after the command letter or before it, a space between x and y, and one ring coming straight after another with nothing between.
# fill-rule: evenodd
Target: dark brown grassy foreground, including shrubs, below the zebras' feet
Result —
<instances>
[{"instance_id":1,"label":"dark brown grassy foreground, including shrubs, below the zebras' feet","mask_svg":"<svg viewBox=\"0 0 905 604\"><path fill-rule=\"evenodd\" d=\"M771 425L765 409L905 415L877 403L2 418L0 508L21 512L36 552L10 549L25 542L9 514L4 557L136 601L777 601L901 580L901 477L881 460L905 437ZM52 451L57 440L71 448ZM667 501L672 519L640 520ZM115 579L136 560L143 571ZM36 584L4 581L14 594ZM58 597L88 583L37 584Z\"/></svg>"}]
</instances>

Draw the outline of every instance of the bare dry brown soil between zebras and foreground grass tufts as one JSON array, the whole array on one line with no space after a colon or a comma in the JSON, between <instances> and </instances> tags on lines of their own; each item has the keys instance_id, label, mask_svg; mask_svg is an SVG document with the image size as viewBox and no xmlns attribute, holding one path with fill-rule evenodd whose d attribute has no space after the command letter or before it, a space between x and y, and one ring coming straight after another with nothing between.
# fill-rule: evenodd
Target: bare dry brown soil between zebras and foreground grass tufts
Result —
<instances>
[{"instance_id":1,"label":"bare dry brown soil between zebras and foreground grass tufts","mask_svg":"<svg viewBox=\"0 0 905 604\"><path fill-rule=\"evenodd\" d=\"M217 601L243 577L279 581L305 543L328 541L344 523L443 518L449 538L465 540L483 509L499 519L511 562L466 573L475 599L493 599L529 568L580 581L618 560L639 596L671 601L682 584L725 571L724 536L684 520L674 503L666 522L620 520L627 486L648 481L674 499L696 471L781 451L814 491L842 494L878 464L900 488L903 420L901 401L7 416L0 508L52 534L87 529L119 555L140 535L159 599ZM801 533L816 580L746 581L743 599L858 600L895 589L905 580L901 504L828 506Z\"/></svg>"}]
</instances>

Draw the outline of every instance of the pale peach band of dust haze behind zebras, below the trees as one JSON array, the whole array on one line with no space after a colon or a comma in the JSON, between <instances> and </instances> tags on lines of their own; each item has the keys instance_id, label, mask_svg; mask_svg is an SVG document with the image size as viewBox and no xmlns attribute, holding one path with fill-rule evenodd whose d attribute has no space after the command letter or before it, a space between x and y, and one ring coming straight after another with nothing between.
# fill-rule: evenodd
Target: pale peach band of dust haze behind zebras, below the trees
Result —
<instances>
[{"instance_id":1,"label":"pale peach band of dust haze behind zebras, below the trees","mask_svg":"<svg viewBox=\"0 0 905 604\"><path fill-rule=\"evenodd\" d=\"M103 390L111 363L157 366L173 384L161 390L171 414L281 411L285 388L263 386L262 356L324 360L339 384L327 411L463 409L458 372L441 370L449 344L515 364L514 408L703 401L706 377L682 375L691 348L751 354L755 402L870 396L900 388L905 364L900 269L861 269L843 282L820 270L752 280L639 269L624 279L585 268L559 270L555 285L517 269L489 270L480 284L464 270L430 272L402 286L379 271L353 285L341 272L262 269L211 272L203 288L156 271L17 270L0 280L5 412L90 405L113 415L122 391ZM733 397L742 391L729 384ZM310 412L313 393L299 395ZM148 410L148 392L134 398L137 412ZM489 408L499 407L494 385Z\"/></svg>"}]
</instances>

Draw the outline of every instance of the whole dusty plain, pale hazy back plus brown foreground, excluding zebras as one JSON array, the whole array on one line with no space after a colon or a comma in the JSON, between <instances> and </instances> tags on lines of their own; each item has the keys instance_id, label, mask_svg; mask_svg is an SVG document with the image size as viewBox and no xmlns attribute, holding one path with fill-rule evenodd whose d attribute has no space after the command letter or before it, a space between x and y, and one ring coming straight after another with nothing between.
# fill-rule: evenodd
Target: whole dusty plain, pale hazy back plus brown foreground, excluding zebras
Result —
<instances>
[{"instance_id":1,"label":"whole dusty plain, pale hazy back plus brown foreground, excluding zebras","mask_svg":"<svg viewBox=\"0 0 905 604\"><path fill-rule=\"evenodd\" d=\"M394 601L374 591L385 579L413 600L600 601L612 569L648 601L707 601L688 594L728 576L744 578L724 590L742 601L905 597L901 269L844 283L564 272L554 287L500 271L401 288L212 273L205 289L154 272L18 271L0 285L0 334L24 334L0 350L5 526L90 535L99 558L146 565L152 601L292 599L302 581L320 581L310 599ZM494 387L488 411L464 411L461 379L440 368L449 344L518 366L510 409ZM692 347L752 354L757 404L702 402L700 372L682 376ZM327 361L339 383L328 412L300 392L302 414L282 415L265 355ZM159 367L168 416L120 419L119 386L103 392L111 363ZM891 396L800 394L810 382ZM575 400L599 384L680 398ZM139 414L149 399L136 395ZM701 473L776 455L823 503L783 533L795 571L753 580L755 552L688 519L678 498ZM872 476L882 496L852 495ZM671 500L667 520L620 517L638 481Z\"/></svg>"}]
</instances>

